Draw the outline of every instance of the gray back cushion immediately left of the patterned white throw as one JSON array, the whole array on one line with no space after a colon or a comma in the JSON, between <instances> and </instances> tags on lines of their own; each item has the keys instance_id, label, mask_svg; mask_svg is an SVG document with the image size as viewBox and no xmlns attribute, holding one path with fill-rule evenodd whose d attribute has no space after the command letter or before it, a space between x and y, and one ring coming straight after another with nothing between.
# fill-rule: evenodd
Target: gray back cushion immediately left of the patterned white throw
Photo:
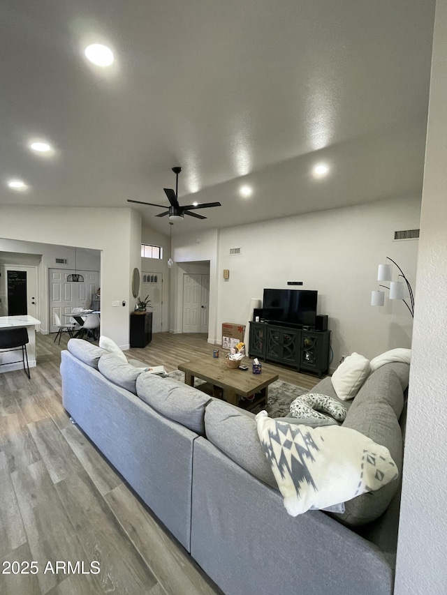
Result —
<instances>
[{"instance_id":1,"label":"gray back cushion immediately left of the patterned white throw","mask_svg":"<svg viewBox=\"0 0 447 595\"><path fill-rule=\"evenodd\" d=\"M242 469L278 488L259 442L253 414L224 401L212 400L205 410L205 433L214 446Z\"/></svg>"}]
</instances>

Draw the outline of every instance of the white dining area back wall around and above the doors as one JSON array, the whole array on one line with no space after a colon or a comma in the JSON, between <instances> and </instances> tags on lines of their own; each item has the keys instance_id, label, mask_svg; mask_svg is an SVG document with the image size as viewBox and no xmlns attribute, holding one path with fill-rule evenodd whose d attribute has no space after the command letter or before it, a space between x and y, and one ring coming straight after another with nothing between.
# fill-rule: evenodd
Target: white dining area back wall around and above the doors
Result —
<instances>
[{"instance_id":1,"label":"white dining area back wall around and above the doors","mask_svg":"<svg viewBox=\"0 0 447 595\"><path fill-rule=\"evenodd\" d=\"M67 264L57 264L56 258L67 259ZM38 319L41 332L48 332L48 269L78 269L99 271L101 253L98 250L76 249L70 246L52 246L0 238L0 264L22 264L38 267Z\"/></svg>"}]
</instances>

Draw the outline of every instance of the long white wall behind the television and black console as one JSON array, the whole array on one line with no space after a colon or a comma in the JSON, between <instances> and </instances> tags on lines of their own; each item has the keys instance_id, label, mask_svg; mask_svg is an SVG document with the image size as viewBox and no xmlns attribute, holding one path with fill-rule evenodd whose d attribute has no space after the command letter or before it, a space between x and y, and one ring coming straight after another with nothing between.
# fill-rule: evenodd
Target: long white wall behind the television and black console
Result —
<instances>
[{"instance_id":1,"label":"long white wall behind the television and black console","mask_svg":"<svg viewBox=\"0 0 447 595\"><path fill-rule=\"evenodd\" d=\"M404 303L387 298L383 308L369 304L372 289L378 289L377 266L386 256L416 289L418 241L394 241L394 232L416 229L419 220L420 197L406 197L221 229L203 234L200 243L196 234L185 235L173 244L179 262L210 258L217 244L217 259L210 263L217 283L210 292L217 309L210 339L221 340L222 322L244 324L251 298L262 299L265 287L302 281L302 289L318 291L318 313L329 316L335 368L342 354L357 351L371 359L386 349L410 347L412 319ZM230 255L230 248L240 248L240 255ZM223 269L230 270L229 280L223 280Z\"/></svg>"}]
</instances>

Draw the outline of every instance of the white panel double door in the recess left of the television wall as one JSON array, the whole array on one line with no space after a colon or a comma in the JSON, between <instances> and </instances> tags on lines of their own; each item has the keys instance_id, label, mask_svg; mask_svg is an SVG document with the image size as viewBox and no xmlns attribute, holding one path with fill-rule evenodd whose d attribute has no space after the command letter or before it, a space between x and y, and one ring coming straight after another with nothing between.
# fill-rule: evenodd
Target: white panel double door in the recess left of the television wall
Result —
<instances>
[{"instance_id":1,"label":"white panel double door in the recess left of the television wall","mask_svg":"<svg viewBox=\"0 0 447 595\"><path fill-rule=\"evenodd\" d=\"M185 273L183 276L183 333L205 333L208 329L210 276Z\"/></svg>"}]
</instances>

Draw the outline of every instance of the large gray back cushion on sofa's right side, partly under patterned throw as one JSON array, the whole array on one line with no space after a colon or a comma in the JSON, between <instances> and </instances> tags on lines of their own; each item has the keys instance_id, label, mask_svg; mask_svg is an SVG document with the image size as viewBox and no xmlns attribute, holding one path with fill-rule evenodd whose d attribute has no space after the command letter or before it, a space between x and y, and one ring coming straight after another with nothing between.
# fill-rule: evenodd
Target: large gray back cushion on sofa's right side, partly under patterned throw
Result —
<instances>
[{"instance_id":1,"label":"large gray back cushion on sofa's right side, partly under patterned throw","mask_svg":"<svg viewBox=\"0 0 447 595\"><path fill-rule=\"evenodd\" d=\"M399 472L402 471L402 431L398 419L403 405L400 378L393 370L393 364L386 364L369 376L342 425L386 446ZM386 510L398 486L397 480L391 481L376 492L346 502L346 511L337 518L346 525L363 525L375 520Z\"/></svg>"}]
</instances>

